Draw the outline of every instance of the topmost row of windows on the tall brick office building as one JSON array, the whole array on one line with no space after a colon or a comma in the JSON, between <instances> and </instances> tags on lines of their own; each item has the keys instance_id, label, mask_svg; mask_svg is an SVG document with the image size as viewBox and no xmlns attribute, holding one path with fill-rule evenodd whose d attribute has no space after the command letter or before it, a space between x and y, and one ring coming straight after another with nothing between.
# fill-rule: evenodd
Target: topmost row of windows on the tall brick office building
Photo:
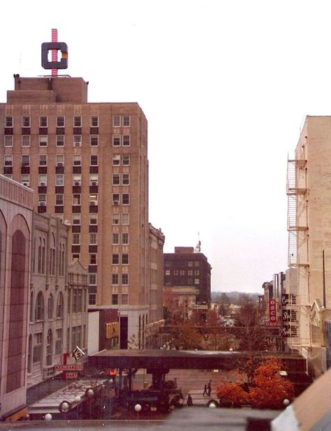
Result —
<instances>
[{"instance_id":1,"label":"topmost row of windows on the tall brick office building","mask_svg":"<svg viewBox=\"0 0 331 431\"><path fill-rule=\"evenodd\" d=\"M39 116L39 127L48 127L48 117L47 115ZM66 117L64 115L57 115L56 126L64 127L66 125ZM131 120L130 115L113 115L112 116L112 126L113 127L130 127ZM5 117L5 127L14 126L14 117L12 115L7 115ZM89 119L89 126L98 127L99 119L98 115L91 115ZM22 127L31 127L31 117L29 115L23 115L22 117ZM73 116L73 127L82 127L82 116Z\"/></svg>"}]
</instances>

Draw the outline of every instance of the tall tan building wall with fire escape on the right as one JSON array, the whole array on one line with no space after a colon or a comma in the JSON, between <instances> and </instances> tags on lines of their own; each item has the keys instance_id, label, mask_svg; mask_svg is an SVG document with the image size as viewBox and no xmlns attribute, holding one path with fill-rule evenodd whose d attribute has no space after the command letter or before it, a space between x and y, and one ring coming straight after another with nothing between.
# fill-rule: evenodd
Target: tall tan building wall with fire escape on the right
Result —
<instances>
[{"instance_id":1,"label":"tall tan building wall with fire escape on the right","mask_svg":"<svg viewBox=\"0 0 331 431\"><path fill-rule=\"evenodd\" d=\"M315 300L331 307L331 117L306 117L295 149L295 251L289 254L293 272L290 293L297 291L298 345L309 357L311 307ZM296 253L296 256L295 256ZM291 261L292 259L292 261ZM292 264L291 264L292 263ZM324 303L325 302L325 303ZM321 346L321 343L320 343Z\"/></svg>"}]
</instances>

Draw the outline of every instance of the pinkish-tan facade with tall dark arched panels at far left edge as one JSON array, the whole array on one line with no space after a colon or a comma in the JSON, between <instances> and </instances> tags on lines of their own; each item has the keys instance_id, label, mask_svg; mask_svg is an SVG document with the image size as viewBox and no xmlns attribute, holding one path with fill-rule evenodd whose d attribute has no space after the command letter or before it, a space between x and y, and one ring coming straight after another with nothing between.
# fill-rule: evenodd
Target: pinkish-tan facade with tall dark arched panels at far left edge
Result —
<instances>
[{"instance_id":1,"label":"pinkish-tan facade with tall dark arched panels at far left edge","mask_svg":"<svg viewBox=\"0 0 331 431\"><path fill-rule=\"evenodd\" d=\"M0 175L1 419L27 413L31 226L32 191Z\"/></svg>"}]
</instances>

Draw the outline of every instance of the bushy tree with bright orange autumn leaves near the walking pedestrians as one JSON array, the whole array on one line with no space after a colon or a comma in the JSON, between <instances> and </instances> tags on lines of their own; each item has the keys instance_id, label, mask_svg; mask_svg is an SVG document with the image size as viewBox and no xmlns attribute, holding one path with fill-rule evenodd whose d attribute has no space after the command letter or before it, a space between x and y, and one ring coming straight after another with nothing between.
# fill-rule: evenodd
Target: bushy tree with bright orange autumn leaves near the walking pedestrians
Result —
<instances>
[{"instance_id":1,"label":"bushy tree with bright orange autumn leaves near the walking pedestrians","mask_svg":"<svg viewBox=\"0 0 331 431\"><path fill-rule=\"evenodd\" d=\"M279 375L280 370L281 361L268 358L256 367L248 390L244 389L243 382L221 382L216 386L217 397L221 404L233 407L249 404L257 409L281 409L285 399L293 399L294 387L293 383Z\"/></svg>"}]
</instances>

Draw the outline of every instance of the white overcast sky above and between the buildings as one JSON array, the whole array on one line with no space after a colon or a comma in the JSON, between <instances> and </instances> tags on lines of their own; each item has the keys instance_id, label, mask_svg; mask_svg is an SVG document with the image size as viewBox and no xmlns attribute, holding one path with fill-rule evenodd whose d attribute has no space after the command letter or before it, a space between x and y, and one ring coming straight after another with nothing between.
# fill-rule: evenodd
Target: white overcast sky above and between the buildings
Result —
<instances>
[{"instance_id":1,"label":"white overcast sky above and between the buildings","mask_svg":"<svg viewBox=\"0 0 331 431\"><path fill-rule=\"evenodd\" d=\"M306 115L331 115L331 2L1 3L0 102L13 73L46 75L51 29L90 102L149 121L149 221L165 252L196 246L212 290L262 292L286 270L286 161Z\"/></svg>"}]
</instances>

